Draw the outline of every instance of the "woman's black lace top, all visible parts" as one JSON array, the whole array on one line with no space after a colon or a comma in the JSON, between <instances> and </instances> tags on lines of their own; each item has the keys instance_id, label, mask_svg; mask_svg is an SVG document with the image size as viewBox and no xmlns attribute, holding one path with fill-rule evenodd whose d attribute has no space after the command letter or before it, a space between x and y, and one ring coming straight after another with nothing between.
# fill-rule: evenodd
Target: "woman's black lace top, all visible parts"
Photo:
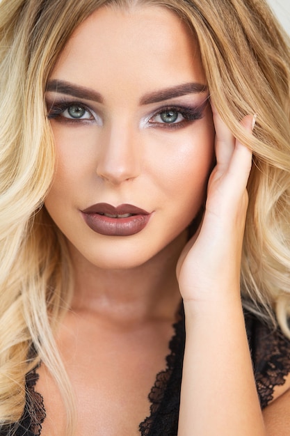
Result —
<instances>
[{"instance_id":1,"label":"woman's black lace top, all visible parts","mask_svg":"<svg viewBox=\"0 0 290 436\"><path fill-rule=\"evenodd\" d=\"M279 329L269 329L251 314L245 314L245 325L257 391L261 407L264 408L273 398L274 387L283 384L284 376L290 372L290 341ZM150 416L139 426L141 436L177 436L185 343L183 309L174 327L170 354L166 357L167 367L156 375L156 382L149 394ZM2 428L0 436L40 436L45 406L42 396L34 389L37 380L36 370L26 376L26 407L22 419L9 428Z\"/></svg>"}]
</instances>

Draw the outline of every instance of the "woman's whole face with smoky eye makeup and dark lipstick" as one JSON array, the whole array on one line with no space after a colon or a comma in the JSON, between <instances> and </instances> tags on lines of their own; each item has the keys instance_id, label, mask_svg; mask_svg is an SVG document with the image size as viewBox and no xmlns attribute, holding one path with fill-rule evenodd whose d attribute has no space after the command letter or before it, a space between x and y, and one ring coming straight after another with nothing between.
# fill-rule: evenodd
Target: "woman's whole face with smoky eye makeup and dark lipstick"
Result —
<instances>
[{"instance_id":1,"label":"woman's whole face with smoky eye makeup and dark lipstick","mask_svg":"<svg viewBox=\"0 0 290 436\"><path fill-rule=\"evenodd\" d=\"M178 17L97 10L59 57L47 108L57 166L45 205L74 254L134 267L184 238L204 202L214 125L198 46Z\"/></svg>"}]
</instances>

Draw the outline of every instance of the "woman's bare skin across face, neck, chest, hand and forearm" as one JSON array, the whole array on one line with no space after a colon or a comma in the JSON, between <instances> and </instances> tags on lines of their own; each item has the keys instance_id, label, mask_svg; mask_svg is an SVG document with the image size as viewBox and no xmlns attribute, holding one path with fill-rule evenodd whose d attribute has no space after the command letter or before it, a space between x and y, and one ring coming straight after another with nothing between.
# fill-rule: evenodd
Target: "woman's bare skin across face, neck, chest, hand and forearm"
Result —
<instances>
[{"instance_id":1,"label":"woman's bare skin across face, neck, chest, hand and forearm","mask_svg":"<svg viewBox=\"0 0 290 436\"><path fill-rule=\"evenodd\" d=\"M211 109L192 35L163 8L101 8L76 29L49 80L57 168L45 206L74 265L72 310L56 341L76 393L76 434L140 434L181 293L178 435L266 435L239 295L252 157ZM199 91L176 95L192 83ZM252 117L243 125L250 132ZM202 226L186 245L206 195ZM99 235L80 210L101 202L152 216L136 235ZM39 372L41 434L67 436L58 387L44 365Z\"/></svg>"}]
</instances>

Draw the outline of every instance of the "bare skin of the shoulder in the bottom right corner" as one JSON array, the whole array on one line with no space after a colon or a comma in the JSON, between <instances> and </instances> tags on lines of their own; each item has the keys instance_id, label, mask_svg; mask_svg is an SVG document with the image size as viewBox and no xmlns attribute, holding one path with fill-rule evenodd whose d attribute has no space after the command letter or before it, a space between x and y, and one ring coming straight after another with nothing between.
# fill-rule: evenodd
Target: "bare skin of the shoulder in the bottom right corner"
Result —
<instances>
[{"instance_id":1,"label":"bare skin of the shoulder in the bottom right corner","mask_svg":"<svg viewBox=\"0 0 290 436\"><path fill-rule=\"evenodd\" d=\"M267 436L290 436L290 373L276 386L273 400L264 409Z\"/></svg>"}]
</instances>

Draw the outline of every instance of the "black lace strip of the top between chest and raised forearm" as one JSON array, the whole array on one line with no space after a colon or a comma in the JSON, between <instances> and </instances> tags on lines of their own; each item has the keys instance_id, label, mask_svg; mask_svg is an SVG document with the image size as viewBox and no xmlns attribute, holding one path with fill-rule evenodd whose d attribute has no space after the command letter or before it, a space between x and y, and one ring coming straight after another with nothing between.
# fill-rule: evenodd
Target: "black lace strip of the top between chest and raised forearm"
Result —
<instances>
[{"instance_id":1,"label":"black lace strip of the top between chest and raised forearm","mask_svg":"<svg viewBox=\"0 0 290 436\"><path fill-rule=\"evenodd\" d=\"M140 423L142 436L176 436L179 416L182 365L185 345L184 307L180 306L174 335L169 343L166 369L156 375L148 396L150 416Z\"/></svg>"}]
</instances>

